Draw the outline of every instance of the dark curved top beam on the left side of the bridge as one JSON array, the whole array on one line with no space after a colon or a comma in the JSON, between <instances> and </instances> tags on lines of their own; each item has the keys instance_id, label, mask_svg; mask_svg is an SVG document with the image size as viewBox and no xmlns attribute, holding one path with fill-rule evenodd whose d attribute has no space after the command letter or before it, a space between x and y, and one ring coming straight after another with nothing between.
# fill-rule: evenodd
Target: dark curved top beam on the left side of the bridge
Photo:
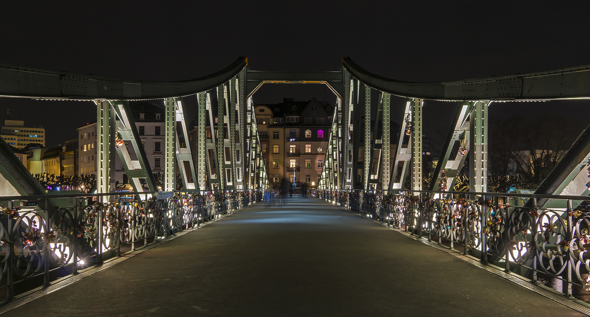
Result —
<instances>
[{"instance_id":1,"label":"dark curved top beam on the left side of the bridge","mask_svg":"<svg viewBox=\"0 0 590 317\"><path fill-rule=\"evenodd\" d=\"M0 63L0 96L71 100L145 100L181 97L213 89L247 65L238 57L230 66L191 80L141 81Z\"/></svg>"}]
</instances>

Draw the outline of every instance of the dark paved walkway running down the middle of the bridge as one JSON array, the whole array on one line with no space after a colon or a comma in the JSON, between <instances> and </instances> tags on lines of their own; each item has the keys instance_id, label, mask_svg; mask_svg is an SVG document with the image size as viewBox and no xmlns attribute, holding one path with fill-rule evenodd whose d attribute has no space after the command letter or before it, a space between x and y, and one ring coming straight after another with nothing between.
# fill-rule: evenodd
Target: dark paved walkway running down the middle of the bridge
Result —
<instances>
[{"instance_id":1,"label":"dark paved walkway running down the middle of the bridge","mask_svg":"<svg viewBox=\"0 0 590 317\"><path fill-rule=\"evenodd\" d=\"M583 316L315 198L254 205L7 316Z\"/></svg>"}]
</instances>

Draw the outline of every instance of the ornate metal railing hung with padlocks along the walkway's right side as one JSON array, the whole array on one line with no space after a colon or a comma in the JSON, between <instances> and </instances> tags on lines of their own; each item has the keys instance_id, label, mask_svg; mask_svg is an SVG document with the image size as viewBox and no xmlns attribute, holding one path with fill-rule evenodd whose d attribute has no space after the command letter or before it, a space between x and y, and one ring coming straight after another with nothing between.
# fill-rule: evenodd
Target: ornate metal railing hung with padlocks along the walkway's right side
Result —
<instances>
[{"instance_id":1,"label":"ornate metal railing hung with padlocks along the walkway's right side","mask_svg":"<svg viewBox=\"0 0 590 317\"><path fill-rule=\"evenodd\" d=\"M563 296L590 290L590 214L572 209L572 201L589 197L354 189L314 189L312 195ZM510 205L510 198L532 199L533 207ZM567 208L536 207L537 199L548 198Z\"/></svg>"}]
</instances>

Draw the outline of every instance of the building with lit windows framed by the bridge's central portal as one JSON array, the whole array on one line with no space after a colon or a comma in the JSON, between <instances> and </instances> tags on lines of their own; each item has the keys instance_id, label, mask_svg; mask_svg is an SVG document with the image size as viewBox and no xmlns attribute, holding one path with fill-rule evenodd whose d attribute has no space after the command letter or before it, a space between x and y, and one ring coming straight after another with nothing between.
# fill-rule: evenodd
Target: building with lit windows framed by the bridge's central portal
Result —
<instances>
[{"instance_id":1,"label":"building with lit windows framed by the bridge's central portal","mask_svg":"<svg viewBox=\"0 0 590 317\"><path fill-rule=\"evenodd\" d=\"M271 183L318 184L326 158L334 108L314 97L307 102L254 107L263 156Z\"/></svg>"}]
</instances>

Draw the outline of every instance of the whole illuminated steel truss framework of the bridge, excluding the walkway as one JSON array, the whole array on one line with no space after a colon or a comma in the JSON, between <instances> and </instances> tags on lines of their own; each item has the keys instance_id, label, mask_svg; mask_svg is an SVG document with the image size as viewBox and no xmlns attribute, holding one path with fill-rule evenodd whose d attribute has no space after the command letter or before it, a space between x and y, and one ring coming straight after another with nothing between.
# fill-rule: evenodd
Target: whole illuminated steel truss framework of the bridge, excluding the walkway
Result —
<instances>
[{"instance_id":1,"label":"whole illuminated steel truss framework of the bridge, excluding the walkway","mask_svg":"<svg viewBox=\"0 0 590 317\"><path fill-rule=\"evenodd\" d=\"M80 254L88 256L113 253L113 250L120 248L123 244L135 243L139 240L147 244L148 237L173 234L198 225L202 221L214 220L217 215L260 201L262 199L260 192L267 189L269 183L261 156L261 143L258 138L251 96L263 84L273 83L326 84L337 96L337 106L333 113L334 119L324 161L326 164L324 164L322 178L315 195L342 207L373 215L388 223L391 223L395 217L398 219L401 217L404 218L401 221L404 223L404 228L418 228L421 232L434 230L429 234L434 232L441 237L444 235L440 231L442 230L440 222L433 223L432 214L426 214L427 208L422 207L434 206L431 199L438 198L437 203L441 205L431 210L434 213L441 213L441 210L445 209L443 202L455 206L447 208L447 211L467 208L469 204L457 207L461 206L458 198L455 199L450 195L444 195L444 192L437 191L440 188L453 188L467 153L470 153L470 192L463 194L480 197L497 195L487 193L489 107L496 102L506 101L590 98L590 66L457 81L414 83L387 79L369 73L350 58L343 58L342 68L337 71L253 71L247 66L247 58L240 57L217 73L192 80L169 82L122 80L106 76L0 64L0 96L91 100L96 103L98 126L96 197L99 202L83 203L81 198L76 198L73 203L66 203L70 204L68 205L70 207L73 206L71 210L63 208L64 202L47 195L45 189L12 153L7 143L0 140L0 160L2 161L0 174L3 178L4 191L4 197L0 197L0 200L9 202L9 208L5 208L4 211L9 215L10 221L15 221L12 224L24 223L22 234L21 230L15 230L14 228L17 227L12 228L10 224L0 233L6 235L6 241L11 241L12 248L17 248L18 239L21 241L21 253L17 251L14 254L6 253L8 255L4 262L17 261L25 257L29 263L29 269L19 273L19 277L25 279L44 270L50 270L51 266L76 263L81 259ZM374 98L375 96L377 97ZM391 116L392 96L406 99L402 117ZM195 97L198 100L198 138L193 141L196 143L194 145L196 151L193 152L188 142L184 107L189 104L186 99ZM156 190L155 179L149 162L146 161L140 136L128 105L134 100L155 99L165 101L165 144L162 151L165 162L165 181L160 192ZM457 106L454 109L451 129L443 144L443 151L434 172L435 176L429 188L423 188L422 108L424 102L428 100L456 102ZM371 113L371 109L377 109L377 113ZM371 120L371 117L376 119ZM392 139L391 133L388 133L391 130L392 120L401 122L399 139ZM207 128L211 133L207 133ZM557 261L562 264L570 263L563 264L562 269L551 273L553 276L561 276L560 274L569 270L569 280L566 282L569 283L570 290L572 283L576 283L572 282L572 270L578 273L579 279L582 278L580 266L578 265L577 269L574 267L573 258L582 263L581 267L590 268L590 258L586 259L581 253L583 246L574 247L575 243L582 241L580 240L582 236L588 234L590 218L584 218L585 216L581 218L585 221L583 226L582 220L578 220L577 225L572 224L573 208L585 199L581 196L590 194L590 190L586 187L590 181L586 171L586 166L590 163L589 132L590 126L576 139L571 149L535 193L525 195L526 198L530 198L525 208L532 211L552 210L556 218L543 218L538 214L535 217L529 217L527 221L520 218L522 226L529 228L529 231L523 231L524 235L520 236L524 239L523 241L529 243L535 240L536 234L545 234L542 227L549 226L546 227L546 232L553 238L546 242L551 242L553 249L558 250L559 246L563 246L562 241L567 241L568 245L571 244L569 250L578 250L578 253L572 253L569 257L566 257L565 253L547 253L549 257L553 257L552 260L558 259ZM455 143L461 140L464 143L458 152ZM395 152L390 150L392 145L396 145ZM133 148L133 152L137 154L136 158L132 158L127 146ZM126 202L120 197L114 199L117 197L114 193L115 153L123 162L124 170L133 188L147 188L144 192L135 193L135 203ZM182 193L171 193L175 189L175 171L181 173L184 188ZM407 175L411 181L410 191L404 189ZM222 191L225 191L225 194ZM379 195L375 195L376 192L379 192ZM454 197L459 197L457 196L459 194L454 193ZM388 195L395 195L396 198ZM563 199L557 195L562 196ZM18 207L12 205L15 201L35 201L37 210L28 211L29 214L17 213ZM375 201L379 203L376 204ZM396 201L395 204L394 201ZM486 204L489 205L489 202L480 205ZM59 207L60 205L62 206ZM379 205L381 207L377 208L376 206ZM401 206L405 208L402 208L404 211L396 212L395 210L399 211ZM484 212L486 208L477 208L481 218L471 219L466 215L464 221L455 221L450 227L455 226L453 228L468 231L468 226L474 228L473 221L475 221L478 223L475 226L478 229L472 230L475 232L473 236L479 234L481 241L488 241L490 238L486 238L485 235L489 232L484 231L486 231L485 228L490 231L486 223L490 217L494 216L492 214L486 216ZM408 210L414 210L416 213L412 214ZM508 214L506 213L506 218L512 217ZM527 211L525 214L533 214L533 212ZM144 217L143 223L140 221L142 217ZM61 221L58 221L58 218ZM92 222L93 218L103 221ZM129 222L127 225L119 224L122 223L123 218ZM150 222L149 218L154 220ZM34 226L32 219L37 219L37 225ZM414 219L414 222L409 219ZM54 241L51 239L55 238L50 237L51 233L57 230L63 221L69 221L67 228L83 226L91 229L84 232L76 231L77 229L70 230L68 233L66 227L60 228L57 233L57 236L60 236L58 238L67 240L68 247L71 247L73 251L68 251L69 255L64 252L65 256L61 259L39 260L42 259L40 253L32 250L38 251L39 248L51 244ZM559 226L553 226L551 223L559 223ZM505 228L509 228L508 224L504 223L501 226L503 226L503 229L499 229L501 233L507 234L508 231ZM582 230L584 228L586 231ZM134 230L143 231L138 233L139 231ZM520 230L522 228L519 227L517 231ZM94 245L77 241L74 238L76 232L87 238L85 241L96 240ZM563 238L556 238L561 237L561 234ZM81 237L80 235L77 237ZM120 238L115 238L117 235ZM473 254L477 254L479 250L478 254L481 258L487 259L485 255L487 250L483 253L481 251L483 246L492 244L478 244L480 249L477 249L478 247L467 243L467 236L453 237L450 238L451 241L457 240L457 243L462 241L461 243L466 245L466 250L467 246L470 246L474 251ZM514 235L506 236L507 239L514 237ZM155 240L158 239L155 238ZM82 245L84 247L81 247ZM537 247L539 247L538 244ZM545 246L539 248L543 249ZM506 250L504 248L503 251L494 254L501 257L502 254L507 253ZM547 251L543 249L543 252ZM537 256L540 258L539 254ZM35 256L38 257L37 260L34 259ZM535 272L537 272L536 259L537 257L535 257ZM42 263L45 264L41 265ZM100 263L100 260L96 263ZM38 267L35 268L35 265ZM508 264L506 266L510 269ZM18 269L13 267L10 270ZM4 272L8 276L11 274L11 272L6 273L6 270ZM11 281L10 278L9 289ZM46 280L45 285L48 283L49 281ZM11 292L9 290L6 300L12 299Z\"/></svg>"}]
</instances>

